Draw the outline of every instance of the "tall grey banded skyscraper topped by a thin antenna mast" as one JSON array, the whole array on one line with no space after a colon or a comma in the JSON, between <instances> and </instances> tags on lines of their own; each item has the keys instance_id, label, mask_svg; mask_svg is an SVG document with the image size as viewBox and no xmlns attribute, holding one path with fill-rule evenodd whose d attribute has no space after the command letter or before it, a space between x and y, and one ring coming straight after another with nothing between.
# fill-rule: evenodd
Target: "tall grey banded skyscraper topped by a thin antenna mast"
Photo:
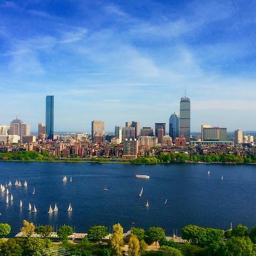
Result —
<instances>
[{"instance_id":1,"label":"tall grey banded skyscraper topped by a thin antenna mast","mask_svg":"<svg viewBox=\"0 0 256 256\"><path fill-rule=\"evenodd\" d=\"M190 99L181 97L180 99L180 137L185 137L186 141L190 141Z\"/></svg>"}]
</instances>

